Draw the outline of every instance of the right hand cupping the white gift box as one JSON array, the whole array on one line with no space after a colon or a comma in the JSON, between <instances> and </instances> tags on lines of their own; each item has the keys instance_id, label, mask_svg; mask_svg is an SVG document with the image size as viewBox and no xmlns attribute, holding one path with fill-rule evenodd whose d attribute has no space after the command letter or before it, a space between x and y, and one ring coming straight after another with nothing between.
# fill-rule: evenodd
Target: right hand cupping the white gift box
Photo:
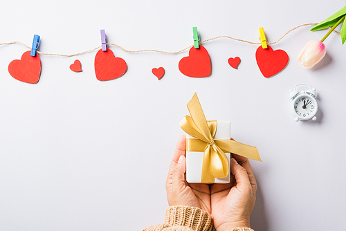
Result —
<instances>
[{"instance_id":1,"label":"right hand cupping the white gift box","mask_svg":"<svg viewBox=\"0 0 346 231\"><path fill-rule=\"evenodd\" d=\"M250 228L250 214L256 200L257 184L247 158L233 155L230 183L210 186L212 219L217 231Z\"/></svg>"}]
</instances>

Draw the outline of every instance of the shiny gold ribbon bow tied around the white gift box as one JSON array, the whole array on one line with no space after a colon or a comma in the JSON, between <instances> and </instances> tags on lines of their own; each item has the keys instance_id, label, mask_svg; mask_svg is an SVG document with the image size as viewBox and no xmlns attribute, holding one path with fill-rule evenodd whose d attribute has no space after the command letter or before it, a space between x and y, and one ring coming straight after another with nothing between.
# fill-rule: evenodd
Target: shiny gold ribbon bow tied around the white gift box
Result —
<instances>
[{"instance_id":1,"label":"shiny gold ribbon bow tied around the white gift box","mask_svg":"<svg viewBox=\"0 0 346 231\"><path fill-rule=\"evenodd\" d=\"M186 139L186 151L204 152L201 183L214 183L215 178L228 176L230 169L225 152L262 161L256 147L235 140L214 139L217 121L206 120L196 93L188 102L188 109L191 116L186 115L179 124L186 133L197 138Z\"/></svg>"}]
</instances>

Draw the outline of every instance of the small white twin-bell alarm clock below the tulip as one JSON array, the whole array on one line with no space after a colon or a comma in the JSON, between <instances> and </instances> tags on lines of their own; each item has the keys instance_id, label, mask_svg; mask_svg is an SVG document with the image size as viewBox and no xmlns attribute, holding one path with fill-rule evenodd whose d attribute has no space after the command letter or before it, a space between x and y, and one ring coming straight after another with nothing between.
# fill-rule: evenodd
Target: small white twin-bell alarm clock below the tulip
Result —
<instances>
[{"instance_id":1,"label":"small white twin-bell alarm clock below the tulip","mask_svg":"<svg viewBox=\"0 0 346 231\"><path fill-rule=\"evenodd\" d=\"M297 86L307 85L309 90L297 91ZM316 101L316 88L311 89L309 84L295 84L294 89L289 89L291 92L289 98L292 100L291 110L295 116L294 120L316 120L318 105Z\"/></svg>"}]
</instances>

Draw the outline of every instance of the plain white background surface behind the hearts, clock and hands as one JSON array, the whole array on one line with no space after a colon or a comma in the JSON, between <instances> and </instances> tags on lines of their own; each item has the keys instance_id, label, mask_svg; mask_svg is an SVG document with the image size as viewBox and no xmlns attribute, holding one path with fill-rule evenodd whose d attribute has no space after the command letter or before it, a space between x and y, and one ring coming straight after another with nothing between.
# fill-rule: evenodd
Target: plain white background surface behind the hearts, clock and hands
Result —
<instances>
[{"instance_id":1,"label":"plain white background surface behind the hearts, clock and hands","mask_svg":"<svg viewBox=\"0 0 346 231\"><path fill-rule=\"evenodd\" d=\"M41 52L68 55L100 46L105 29L109 42L128 50L176 51L192 45L193 26L202 40L229 35L254 42L263 27L273 42L343 6L341 0L1 1L0 43L31 46L37 34ZM0 46L0 230L140 230L162 223L165 178L194 92L208 120L230 120L231 136L260 151L263 163L251 160L258 183L252 228L345 230L345 46L332 33L322 62L302 68L300 50L327 33L310 28L273 44L290 59L271 78L257 67L258 45L216 39L203 44L212 61L206 78L180 73L187 50L125 53L110 46L128 66L116 80L96 79L93 51L41 55L39 82L26 84L7 68L28 49ZM228 65L236 56L238 70ZM82 73L69 69L75 59ZM159 66L161 80L152 74ZM301 82L317 89L316 122L293 120L288 90Z\"/></svg>"}]
</instances>

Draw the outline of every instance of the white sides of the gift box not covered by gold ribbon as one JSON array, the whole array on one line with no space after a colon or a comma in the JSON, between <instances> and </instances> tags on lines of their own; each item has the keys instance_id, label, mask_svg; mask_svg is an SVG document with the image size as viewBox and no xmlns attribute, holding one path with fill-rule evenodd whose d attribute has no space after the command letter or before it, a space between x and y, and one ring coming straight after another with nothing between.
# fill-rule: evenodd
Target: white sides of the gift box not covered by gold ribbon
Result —
<instances>
[{"instance_id":1,"label":"white sides of the gift box not covered by gold ribbon","mask_svg":"<svg viewBox=\"0 0 346 231\"><path fill-rule=\"evenodd\" d=\"M186 138L196 139L188 134ZM230 121L217 121L217 131L214 139L230 139ZM230 153L225 153L228 158L228 169L230 169ZM188 183L201 183L203 152L186 151L186 181ZM230 171L225 178L215 178L214 183L230 183Z\"/></svg>"}]
</instances>

